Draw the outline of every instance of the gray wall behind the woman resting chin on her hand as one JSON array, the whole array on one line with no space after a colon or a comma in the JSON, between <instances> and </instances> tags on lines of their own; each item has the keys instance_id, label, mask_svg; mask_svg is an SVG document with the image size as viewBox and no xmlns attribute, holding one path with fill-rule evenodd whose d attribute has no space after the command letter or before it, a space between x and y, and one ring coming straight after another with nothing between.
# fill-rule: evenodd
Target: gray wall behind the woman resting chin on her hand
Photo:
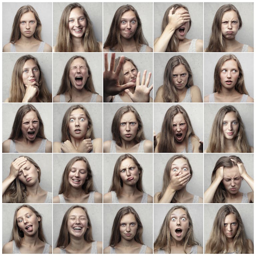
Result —
<instances>
[{"instance_id":1,"label":"gray wall behind the woman resting chin on her hand","mask_svg":"<svg viewBox=\"0 0 256 256\"><path fill-rule=\"evenodd\" d=\"M10 96L11 78L14 65L18 58L26 55L26 53L3 53L3 101L5 101ZM41 71L44 75L44 79L47 88L50 93L52 93L52 53L32 53L33 57L36 57L38 63L41 67Z\"/></svg>"}]
</instances>

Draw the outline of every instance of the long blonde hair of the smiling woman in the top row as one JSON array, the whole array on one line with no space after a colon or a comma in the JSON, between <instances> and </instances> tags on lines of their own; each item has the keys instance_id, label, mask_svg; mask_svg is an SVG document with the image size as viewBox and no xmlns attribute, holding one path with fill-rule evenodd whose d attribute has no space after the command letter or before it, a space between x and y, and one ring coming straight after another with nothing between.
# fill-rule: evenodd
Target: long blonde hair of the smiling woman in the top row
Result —
<instances>
[{"instance_id":1,"label":"long blonde hair of the smiling woman in the top row","mask_svg":"<svg viewBox=\"0 0 256 256\"><path fill-rule=\"evenodd\" d=\"M79 3L71 3L67 5L61 15L59 32L57 35L57 44L55 46L55 52L73 52L72 36L70 35L68 28L68 20L70 12L74 8L80 8L86 19L86 30L83 36L83 45L85 52L101 52L100 46L95 38L92 22L89 15L85 11L84 7Z\"/></svg>"}]
</instances>

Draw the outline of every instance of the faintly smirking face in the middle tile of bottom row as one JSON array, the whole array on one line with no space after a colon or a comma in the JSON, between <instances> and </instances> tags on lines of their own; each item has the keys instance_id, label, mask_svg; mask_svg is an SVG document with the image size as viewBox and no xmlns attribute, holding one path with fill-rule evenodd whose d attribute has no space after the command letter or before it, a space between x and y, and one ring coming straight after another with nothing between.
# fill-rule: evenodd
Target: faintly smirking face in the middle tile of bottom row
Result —
<instances>
[{"instance_id":1,"label":"faintly smirking face in the middle tile of bottom row","mask_svg":"<svg viewBox=\"0 0 256 256\"><path fill-rule=\"evenodd\" d=\"M125 214L120 221L120 235L121 240L132 240L138 229L138 223L133 213Z\"/></svg>"}]
</instances>

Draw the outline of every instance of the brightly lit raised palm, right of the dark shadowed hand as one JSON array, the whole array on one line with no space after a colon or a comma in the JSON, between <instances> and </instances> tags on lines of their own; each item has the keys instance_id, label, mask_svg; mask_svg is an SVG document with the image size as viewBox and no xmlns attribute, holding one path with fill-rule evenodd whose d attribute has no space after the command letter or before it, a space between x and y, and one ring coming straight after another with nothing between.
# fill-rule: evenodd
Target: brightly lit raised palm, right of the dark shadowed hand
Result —
<instances>
[{"instance_id":1,"label":"brightly lit raised palm, right of the dark shadowed hand","mask_svg":"<svg viewBox=\"0 0 256 256\"><path fill-rule=\"evenodd\" d=\"M147 70L144 71L142 81L140 84L140 72L138 72L134 93L131 93L129 89L124 90L129 95L129 97L133 102L149 102L149 93L153 89L153 84L149 88L148 88L148 85L149 85L149 81L152 73L150 72L148 74L147 81L146 81L146 74L147 74Z\"/></svg>"}]
</instances>

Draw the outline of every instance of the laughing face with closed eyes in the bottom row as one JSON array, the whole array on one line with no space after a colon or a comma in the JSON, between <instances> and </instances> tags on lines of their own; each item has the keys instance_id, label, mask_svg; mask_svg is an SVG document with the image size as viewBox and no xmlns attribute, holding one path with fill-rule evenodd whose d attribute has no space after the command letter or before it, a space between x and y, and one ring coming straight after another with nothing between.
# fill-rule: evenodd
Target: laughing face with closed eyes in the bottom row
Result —
<instances>
[{"instance_id":1,"label":"laughing face with closed eyes in the bottom row","mask_svg":"<svg viewBox=\"0 0 256 256\"><path fill-rule=\"evenodd\" d=\"M73 237L83 237L88 229L88 218L85 211L74 208L68 216L68 233Z\"/></svg>"}]
</instances>

